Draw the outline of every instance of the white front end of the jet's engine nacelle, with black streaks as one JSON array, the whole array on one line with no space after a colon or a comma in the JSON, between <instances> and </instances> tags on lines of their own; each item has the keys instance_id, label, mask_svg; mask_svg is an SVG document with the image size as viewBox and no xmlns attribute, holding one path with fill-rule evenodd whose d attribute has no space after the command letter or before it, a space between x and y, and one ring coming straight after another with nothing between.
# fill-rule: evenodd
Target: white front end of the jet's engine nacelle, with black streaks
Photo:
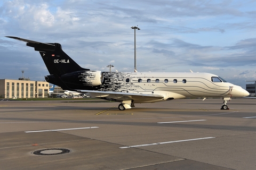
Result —
<instances>
[{"instance_id":1,"label":"white front end of the jet's engine nacelle, with black streaks","mask_svg":"<svg viewBox=\"0 0 256 170\"><path fill-rule=\"evenodd\" d=\"M103 75L101 71L85 71L81 74L81 81L85 86L99 86L102 84Z\"/></svg>"}]
</instances>

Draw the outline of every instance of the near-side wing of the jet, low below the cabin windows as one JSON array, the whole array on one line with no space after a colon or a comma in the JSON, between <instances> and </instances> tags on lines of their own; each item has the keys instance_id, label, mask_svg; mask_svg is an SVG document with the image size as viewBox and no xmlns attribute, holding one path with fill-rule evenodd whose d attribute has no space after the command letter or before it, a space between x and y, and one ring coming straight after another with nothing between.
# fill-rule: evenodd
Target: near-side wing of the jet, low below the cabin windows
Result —
<instances>
[{"instance_id":1,"label":"near-side wing of the jet, low below the cabin windows","mask_svg":"<svg viewBox=\"0 0 256 170\"><path fill-rule=\"evenodd\" d=\"M133 94L130 92L113 92L113 91L93 91L93 90L76 90L78 92L87 93L87 96L97 97L97 98L105 98L105 99L113 99L116 101L123 100L141 100L143 102L154 102L155 100L159 100L164 98L162 95L154 95L154 94Z\"/></svg>"}]
</instances>

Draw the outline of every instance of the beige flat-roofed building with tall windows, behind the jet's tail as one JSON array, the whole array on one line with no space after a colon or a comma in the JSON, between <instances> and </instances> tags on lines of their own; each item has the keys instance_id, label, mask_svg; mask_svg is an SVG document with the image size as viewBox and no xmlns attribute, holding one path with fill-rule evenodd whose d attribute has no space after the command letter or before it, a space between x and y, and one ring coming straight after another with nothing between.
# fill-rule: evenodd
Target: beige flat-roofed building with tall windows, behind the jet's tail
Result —
<instances>
[{"instance_id":1,"label":"beige flat-roofed building with tall windows, behind the jet's tail","mask_svg":"<svg viewBox=\"0 0 256 170\"><path fill-rule=\"evenodd\" d=\"M0 79L0 98L44 98L48 93L46 81Z\"/></svg>"}]
</instances>

